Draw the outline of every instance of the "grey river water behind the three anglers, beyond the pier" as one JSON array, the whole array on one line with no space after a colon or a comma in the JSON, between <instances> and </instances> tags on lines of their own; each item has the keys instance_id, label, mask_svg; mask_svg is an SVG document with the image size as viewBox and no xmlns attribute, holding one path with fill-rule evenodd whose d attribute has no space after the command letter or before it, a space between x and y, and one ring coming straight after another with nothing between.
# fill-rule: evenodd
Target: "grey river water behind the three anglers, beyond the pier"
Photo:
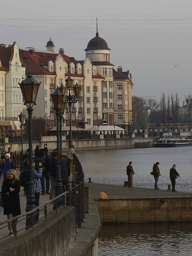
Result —
<instances>
[{"instance_id":1,"label":"grey river water behind the three anglers, beyond the pier","mask_svg":"<svg viewBox=\"0 0 192 256\"><path fill-rule=\"evenodd\" d=\"M124 148L92 151L78 151L82 163L85 180L92 182L123 185L127 180L126 166L132 161L133 186L154 188L154 177L150 175L153 164L159 162L161 174L159 188L167 189L171 184L169 170L176 164L181 178L176 180L176 189L192 191L192 147L178 148Z\"/></svg>"}]
</instances>

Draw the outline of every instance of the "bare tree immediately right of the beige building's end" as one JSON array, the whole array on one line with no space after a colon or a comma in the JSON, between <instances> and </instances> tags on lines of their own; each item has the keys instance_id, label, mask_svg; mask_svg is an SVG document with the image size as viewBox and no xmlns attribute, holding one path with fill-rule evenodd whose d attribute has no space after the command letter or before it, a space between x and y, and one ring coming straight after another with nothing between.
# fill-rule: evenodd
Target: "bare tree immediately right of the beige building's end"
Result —
<instances>
[{"instance_id":1,"label":"bare tree immediately right of the beige building's end","mask_svg":"<svg viewBox=\"0 0 192 256\"><path fill-rule=\"evenodd\" d=\"M132 96L132 111L133 111L133 127L137 129L141 127L143 113L145 111L146 100L141 97Z\"/></svg>"}]
</instances>

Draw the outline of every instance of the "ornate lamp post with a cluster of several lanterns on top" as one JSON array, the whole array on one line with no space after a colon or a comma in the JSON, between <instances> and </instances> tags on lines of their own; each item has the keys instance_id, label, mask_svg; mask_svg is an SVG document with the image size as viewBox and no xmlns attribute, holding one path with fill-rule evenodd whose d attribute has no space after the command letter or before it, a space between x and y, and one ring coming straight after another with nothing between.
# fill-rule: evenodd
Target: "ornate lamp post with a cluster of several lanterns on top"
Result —
<instances>
[{"instance_id":1,"label":"ornate lamp post with a cluster of several lanterns on top","mask_svg":"<svg viewBox=\"0 0 192 256\"><path fill-rule=\"evenodd\" d=\"M72 145L72 131L71 131L71 104L76 103L78 100L78 96L81 90L81 86L79 86L77 83L75 86L72 87L73 85L73 79L71 79L71 77L69 76L66 80L65 80L66 84L67 84L67 88L69 90L69 95L65 95L64 96L64 100L65 102L68 103L69 106L69 147ZM74 94L75 95L71 95L71 89L73 88Z\"/></svg>"}]
</instances>

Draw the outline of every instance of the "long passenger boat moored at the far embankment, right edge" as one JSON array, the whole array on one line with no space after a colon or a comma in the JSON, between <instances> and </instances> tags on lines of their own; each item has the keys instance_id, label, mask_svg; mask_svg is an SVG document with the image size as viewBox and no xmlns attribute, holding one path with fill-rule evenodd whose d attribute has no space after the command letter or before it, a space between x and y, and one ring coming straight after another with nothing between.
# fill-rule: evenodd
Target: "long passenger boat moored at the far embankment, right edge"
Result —
<instances>
[{"instance_id":1,"label":"long passenger boat moored at the far embankment, right edge","mask_svg":"<svg viewBox=\"0 0 192 256\"><path fill-rule=\"evenodd\" d=\"M192 139L186 138L174 138L173 136L163 137L153 144L156 148L167 148L167 147L185 147L192 146Z\"/></svg>"}]
</instances>

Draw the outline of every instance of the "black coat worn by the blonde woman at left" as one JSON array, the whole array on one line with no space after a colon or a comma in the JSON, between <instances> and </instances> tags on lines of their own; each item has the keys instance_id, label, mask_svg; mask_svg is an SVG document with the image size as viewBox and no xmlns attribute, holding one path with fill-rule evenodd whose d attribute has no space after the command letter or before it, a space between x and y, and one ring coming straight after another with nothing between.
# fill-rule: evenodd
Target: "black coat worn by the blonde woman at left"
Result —
<instances>
[{"instance_id":1,"label":"black coat worn by the blonde woman at left","mask_svg":"<svg viewBox=\"0 0 192 256\"><path fill-rule=\"evenodd\" d=\"M11 192L10 188L15 188L15 190ZM11 213L13 216L20 215L20 181L16 180L14 183L10 183L9 179L4 180L1 189L3 192L4 215Z\"/></svg>"}]
</instances>

